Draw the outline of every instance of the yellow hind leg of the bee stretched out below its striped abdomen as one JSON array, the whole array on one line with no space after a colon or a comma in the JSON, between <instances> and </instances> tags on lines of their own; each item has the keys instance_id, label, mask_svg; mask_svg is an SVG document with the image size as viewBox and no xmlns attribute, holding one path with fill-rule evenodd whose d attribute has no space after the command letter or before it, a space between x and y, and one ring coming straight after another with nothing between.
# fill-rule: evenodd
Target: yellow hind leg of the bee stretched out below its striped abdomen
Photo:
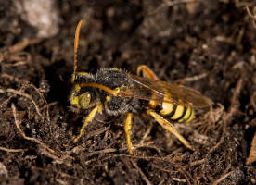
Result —
<instances>
[{"instance_id":1,"label":"yellow hind leg of the bee stretched out below its striped abdomen","mask_svg":"<svg viewBox=\"0 0 256 185\"><path fill-rule=\"evenodd\" d=\"M173 124L170 123L165 118L161 117L159 114L157 114L153 110L147 110L147 115L154 117L156 121L160 124L163 129L166 129L174 134L175 137L179 139L180 142L182 142L186 148L195 151L195 149L189 144L189 142L186 141L186 139L173 127Z\"/></svg>"}]
</instances>

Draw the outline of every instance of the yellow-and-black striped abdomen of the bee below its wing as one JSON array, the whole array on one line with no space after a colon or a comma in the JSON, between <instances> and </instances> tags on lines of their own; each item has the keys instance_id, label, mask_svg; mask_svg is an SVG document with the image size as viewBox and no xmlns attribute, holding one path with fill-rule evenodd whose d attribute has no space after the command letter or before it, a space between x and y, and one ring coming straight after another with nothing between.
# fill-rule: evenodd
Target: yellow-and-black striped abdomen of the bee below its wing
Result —
<instances>
[{"instance_id":1,"label":"yellow-and-black striped abdomen of the bee below its wing","mask_svg":"<svg viewBox=\"0 0 256 185\"><path fill-rule=\"evenodd\" d=\"M191 106L162 103L160 115L169 117L173 122L190 122L194 118L194 110Z\"/></svg>"}]
</instances>

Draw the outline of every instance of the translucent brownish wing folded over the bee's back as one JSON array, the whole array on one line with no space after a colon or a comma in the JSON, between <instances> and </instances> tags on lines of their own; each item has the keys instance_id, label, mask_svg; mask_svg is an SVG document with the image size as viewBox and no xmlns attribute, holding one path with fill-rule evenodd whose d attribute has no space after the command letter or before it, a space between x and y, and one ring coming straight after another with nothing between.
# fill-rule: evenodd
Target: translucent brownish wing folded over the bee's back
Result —
<instances>
[{"instance_id":1,"label":"translucent brownish wing folded over the bee's back","mask_svg":"<svg viewBox=\"0 0 256 185\"><path fill-rule=\"evenodd\" d=\"M128 87L121 87L121 92L119 93L121 96L196 108L208 107L212 104L211 99L185 86L165 81L149 80L131 74L127 75L132 82Z\"/></svg>"}]
</instances>

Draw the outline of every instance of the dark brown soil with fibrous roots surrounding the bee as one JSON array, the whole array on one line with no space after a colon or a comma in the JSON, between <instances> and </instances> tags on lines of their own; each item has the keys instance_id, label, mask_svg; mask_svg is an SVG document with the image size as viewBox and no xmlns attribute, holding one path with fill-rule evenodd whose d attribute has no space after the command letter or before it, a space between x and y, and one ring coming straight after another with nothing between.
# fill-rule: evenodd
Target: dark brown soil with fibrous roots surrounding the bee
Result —
<instances>
[{"instance_id":1,"label":"dark brown soil with fibrous roots surrounding the bee","mask_svg":"<svg viewBox=\"0 0 256 185\"><path fill-rule=\"evenodd\" d=\"M255 163L245 162L256 129L256 27L245 6L253 15L256 5L164 2L59 0L58 35L37 39L13 1L0 1L1 184L255 183ZM68 102L79 19L80 70L146 64L214 101L213 117L198 110L177 125L195 152L144 114L134 117L134 156L124 117L98 117L72 142L83 118Z\"/></svg>"}]
</instances>

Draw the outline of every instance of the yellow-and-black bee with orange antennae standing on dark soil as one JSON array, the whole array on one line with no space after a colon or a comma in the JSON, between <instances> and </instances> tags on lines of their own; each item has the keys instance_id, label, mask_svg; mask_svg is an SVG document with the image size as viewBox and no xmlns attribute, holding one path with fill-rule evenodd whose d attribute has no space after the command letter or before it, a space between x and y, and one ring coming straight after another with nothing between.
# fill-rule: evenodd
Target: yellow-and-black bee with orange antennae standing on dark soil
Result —
<instances>
[{"instance_id":1,"label":"yellow-and-black bee with orange antennae standing on dark soil","mask_svg":"<svg viewBox=\"0 0 256 185\"><path fill-rule=\"evenodd\" d=\"M173 122L190 122L195 116L194 108L211 106L211 99L196 90L182 85L160 81L147 66L139 66L137 75L119 68L100 68L95 74L77 71L77 50L83 21L77 25L74 41L74 72L71 82L70 105L89 110L83 119L77 142L86 126L96 114L109 116L126 115L124 131L129 154L133 154L131 129L133 115L143 111L153 117L161 127L173 133L186 148L194 148L173 127Z\"/></svg>"}]
</instances>

